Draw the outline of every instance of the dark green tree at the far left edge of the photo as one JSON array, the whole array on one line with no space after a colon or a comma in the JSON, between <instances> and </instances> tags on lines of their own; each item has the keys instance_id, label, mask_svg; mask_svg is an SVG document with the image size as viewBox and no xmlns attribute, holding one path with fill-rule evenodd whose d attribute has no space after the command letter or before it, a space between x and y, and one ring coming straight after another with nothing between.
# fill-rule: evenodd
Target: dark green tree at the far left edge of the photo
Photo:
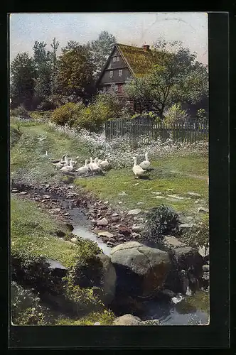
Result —
<instances>
[{"instance_id":1,"label":"dark green tree at the far left edge of the photo","mask_svg":"<svg viewBox=\"0 0 236 355\"><path fill-rule=\"evenodd\" d=\"M27 53L18 53L11 62L11 107L23 104L31 109L36 70L32 58Z\"/></svg>"}]
</instances>

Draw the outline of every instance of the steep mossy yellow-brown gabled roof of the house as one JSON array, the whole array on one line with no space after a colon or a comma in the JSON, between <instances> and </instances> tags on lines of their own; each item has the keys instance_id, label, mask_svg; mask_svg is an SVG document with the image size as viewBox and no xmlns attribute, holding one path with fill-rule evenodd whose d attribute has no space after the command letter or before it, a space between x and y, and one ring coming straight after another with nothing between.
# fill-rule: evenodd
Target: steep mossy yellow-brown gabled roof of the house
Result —
<instances>
[{"instance_id":1,"label":"steep mossy yellow-brown gabled roof of the house","mask_svg":"<svg viewBox=\"0 0 236 355\"><path fill-rule=\"evenodd\" d=\"M109 55L109 58L107 58L107 62L102 68L102 72L100 73L97 83L100 82L100 79L104 73L104 70L107 67L107 64L109 63L112 53L114 53L115 48L117 48L119 54L122 55L124 62L127 63L130 72L135 77L142 77L143 75L146 75L149 70L154 67L155 62L151 50L146 51L144 50L144 48L117 43L114 45L114 48Z\"/></svg>"}]
</instances>

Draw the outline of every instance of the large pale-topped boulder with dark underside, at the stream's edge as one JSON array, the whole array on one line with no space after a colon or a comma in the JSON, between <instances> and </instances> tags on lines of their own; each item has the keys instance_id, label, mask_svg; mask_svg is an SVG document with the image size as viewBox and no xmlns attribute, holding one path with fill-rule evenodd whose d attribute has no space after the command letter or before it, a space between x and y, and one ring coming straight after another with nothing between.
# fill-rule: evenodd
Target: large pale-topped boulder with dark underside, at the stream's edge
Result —
<instances>
[{"instance_id":1,"label":"large pale-topped boulder with dark underside, at the stream's edge","mask_svg":"<svg viewBox=\"0 0 236 355\"><path fill-rule=\"evenodd\" d=\"M155 295L171 268L168 253L137 241L115 246L110 256L117 273L117 295Z\"/></svg>"}]
</instances>

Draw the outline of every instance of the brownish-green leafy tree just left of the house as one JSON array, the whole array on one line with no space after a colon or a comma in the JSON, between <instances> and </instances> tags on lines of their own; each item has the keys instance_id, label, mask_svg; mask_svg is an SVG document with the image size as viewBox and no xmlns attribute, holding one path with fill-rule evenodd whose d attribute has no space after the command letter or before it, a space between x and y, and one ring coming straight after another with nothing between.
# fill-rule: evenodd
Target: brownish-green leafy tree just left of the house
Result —
<instances>
[{"instance_id":1,"label":"brownish-green leafy tree just left of the house","mask_svg":"<svg viewBox=\"0 0 236 355\"><path fill-rule=\"evenodd\" d=\"M87 45L75 45L63 48L58 58L58 92L63 95L75 95L85 99L92 93L95 65Z\"/></svg>"}]
</instances>

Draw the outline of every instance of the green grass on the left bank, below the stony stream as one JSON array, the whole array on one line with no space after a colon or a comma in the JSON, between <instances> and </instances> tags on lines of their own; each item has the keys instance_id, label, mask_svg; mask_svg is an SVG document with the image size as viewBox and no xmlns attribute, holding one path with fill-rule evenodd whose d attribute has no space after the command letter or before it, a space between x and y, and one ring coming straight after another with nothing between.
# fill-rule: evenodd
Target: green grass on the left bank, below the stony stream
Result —
<instances>
[{"instance_id":1,"label":"green grass on the left bank, below the stony stream","mask_svg":"<svg viewBox=\"0 0 236 355\"><path fill-rule=\"evenodd\" d=\"M79 247L50 234L63 226L43 212L35 202L11 197L11 252L22 251L73 266ZM64 229L66 232L66 230Z\"/></svg>"}]
</instances>

